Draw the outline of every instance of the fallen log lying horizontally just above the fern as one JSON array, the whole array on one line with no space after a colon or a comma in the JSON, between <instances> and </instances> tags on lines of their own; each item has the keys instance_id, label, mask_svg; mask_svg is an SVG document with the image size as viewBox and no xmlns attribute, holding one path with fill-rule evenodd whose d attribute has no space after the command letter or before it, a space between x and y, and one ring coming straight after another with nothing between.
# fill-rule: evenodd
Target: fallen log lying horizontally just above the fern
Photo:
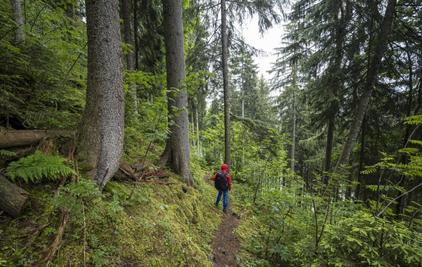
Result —
<instances>
[{"instance_id":1,"label":"fallen log lying horizontally just above the fern","mask_svg":"<svg viewBox=\"0 0 422 267\"><path fill-rule=\"evenodd\" d=\"M58 136L72 136L76 131L72 130L11 130L0 131L0 148L16 148L32 145L43 138Z\"/></svg>"}]
</instances>

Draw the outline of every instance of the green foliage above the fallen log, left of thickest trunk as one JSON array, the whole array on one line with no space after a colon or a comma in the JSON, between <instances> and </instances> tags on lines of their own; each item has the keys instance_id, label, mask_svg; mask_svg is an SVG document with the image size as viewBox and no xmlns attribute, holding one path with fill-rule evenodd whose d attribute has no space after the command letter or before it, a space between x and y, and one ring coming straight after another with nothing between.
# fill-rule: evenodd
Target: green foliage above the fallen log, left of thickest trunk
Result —
<instances>
[{"instance_id":1,"label":"green foliage above the fallen log, left of thickest trunk","mask_svg":"<svg viewBox=\"0 0 422 267\"><path fill-rule=\"evenodd\" d=\"M86 27L79 2L25 1L23 41L14 37L11 2L0 4L2 126L75 128L82 117L87 77Z\"/></svg>"}]
</instances>

